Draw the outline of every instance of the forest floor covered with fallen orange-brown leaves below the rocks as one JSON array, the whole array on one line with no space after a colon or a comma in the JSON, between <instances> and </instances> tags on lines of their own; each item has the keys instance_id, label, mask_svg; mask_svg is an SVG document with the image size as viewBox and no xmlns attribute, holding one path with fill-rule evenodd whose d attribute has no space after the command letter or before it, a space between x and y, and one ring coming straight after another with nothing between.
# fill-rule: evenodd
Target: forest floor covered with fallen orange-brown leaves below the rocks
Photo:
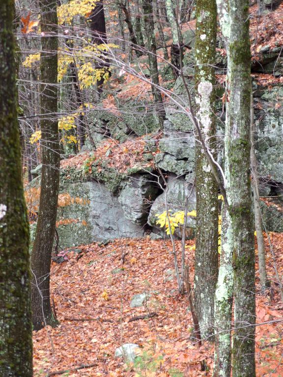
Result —
<instances>
[{"instance_id":1,"label":"forest floor covered with fallen orange-brown leaves below the rocks","mask_svg":"<svg viewBox=\"0 0 283 377\"><path fill-rule=\"evenodd\" d=\"M283 234L272 233L270 239L282 276ZM265 324L256 326L255 358L258 377L280 377L283 322L278 320L283 319L283 302L267 238L265 242L274 289L272 298L259 292L256 264L256 322ZM176 244L180 253L181 244ZM190 339L188 298L178 293L175 276L168 273L174 268L170 241L146 237L78 248L83 252L69 252L63 263L52 264L52 298L60 324L34 332L34 376L58 375L53 372L69 377L212 375L213 345L206 341L198 349ZM186 253L192 280L194 255L189 247ZM151 294L144 305L131 308L133 296L144 292ZM131 321L149 312L156 314ZM139 345L140 362L129 364L114 357L115 349L125 343ZM206 374L200 371L203 359L210 367ZM82 364L89 367L74 370Z\"/></svg>"}]
</instances>

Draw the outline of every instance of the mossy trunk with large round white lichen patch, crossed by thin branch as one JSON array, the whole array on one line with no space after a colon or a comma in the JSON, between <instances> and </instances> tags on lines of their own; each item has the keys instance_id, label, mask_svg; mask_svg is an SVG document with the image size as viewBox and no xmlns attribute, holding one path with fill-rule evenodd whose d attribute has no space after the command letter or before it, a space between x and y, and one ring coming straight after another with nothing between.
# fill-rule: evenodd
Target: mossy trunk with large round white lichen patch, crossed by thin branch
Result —
<instances>
[{"instance_id":1,"label":"mossy trunk with large round white lichen patch, crossed by thin branch","mask_svg":"<svg viewBox=\"0 0 283 377\"><path fill-rule=\"evenodd\" d=\"M215 84L216 1L197 1L195 48L196 116L202 138L216 158ZM201 337L214 334L218 276L218 187L200 141L196 142L197 237L195 304ZM212 338L210 338L212 339Z\"/></svg>"}]
</instances>

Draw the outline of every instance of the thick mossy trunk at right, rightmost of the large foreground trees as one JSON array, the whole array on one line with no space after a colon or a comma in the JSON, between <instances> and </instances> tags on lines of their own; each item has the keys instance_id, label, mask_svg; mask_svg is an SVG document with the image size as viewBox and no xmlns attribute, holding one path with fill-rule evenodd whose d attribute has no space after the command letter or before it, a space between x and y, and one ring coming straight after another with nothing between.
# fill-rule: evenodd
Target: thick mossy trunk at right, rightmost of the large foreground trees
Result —
<instances>
[{"instance_id":1,"label":"thick mossy trunk at right, rightmost of the large foreground trees","mask_svg":"<svg viewBox=\"0 0 283 377\"><path fill-rule=\"evenodd\" d=\"M255 250L250 171L251 51L249 0L217 0L227 52L227 243L234 275L233 377L255 377ZM224 281L223 284L226 284Z\"/></svg>"}]
</instances>

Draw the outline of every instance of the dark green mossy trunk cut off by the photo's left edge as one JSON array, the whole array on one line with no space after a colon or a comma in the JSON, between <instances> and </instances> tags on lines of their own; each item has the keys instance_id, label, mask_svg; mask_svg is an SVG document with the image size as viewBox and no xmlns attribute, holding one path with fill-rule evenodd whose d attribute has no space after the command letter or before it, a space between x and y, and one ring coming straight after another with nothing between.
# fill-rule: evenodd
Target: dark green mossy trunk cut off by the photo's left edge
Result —
<instances>
[{"instance_id":1,"label":"dark green mossy trunk cut off by the photo's left edge","mask_svg":"<svg viewBox=\"0 0 283 377\"><path fill-rule=\"evenodd\" d=\"M17 120L14 1L0 1L0 376L32 376L29 230Z\"/></svg>"}]
</instances>

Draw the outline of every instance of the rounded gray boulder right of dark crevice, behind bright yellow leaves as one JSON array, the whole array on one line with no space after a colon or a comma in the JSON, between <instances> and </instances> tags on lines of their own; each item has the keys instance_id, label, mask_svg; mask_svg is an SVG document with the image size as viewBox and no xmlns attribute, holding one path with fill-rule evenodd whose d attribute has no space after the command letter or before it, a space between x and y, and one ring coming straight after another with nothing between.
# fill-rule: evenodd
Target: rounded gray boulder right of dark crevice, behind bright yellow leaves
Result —
<instances>
[{"instance_id":1,"label":"rounded gray boulder right of dark crevice, behind bright yellow leaves","mask_svg":"<svg viewBox=\"0 0 283 377\"><path fill-rule=\"evenodd\" d=\"M188 183L184 178L177 178L174 175L170 175L168 178L168 192L167 195L163 192L159 195L153 202L150 213L148 216L148 224L155 227L156 230L160 228L156 224L157 215L162 214L166 211L166 196L169 211L172 213L177 211L183 211L185 205L186 196L189 197L188 200L188 211L196 209L196 190L192 183ZM195 219L188 217L187 227L195 227ZM175 230L175 232L177 229ZM177 234L178 235L178 234Z\"/></svg>"}]
</instances>

